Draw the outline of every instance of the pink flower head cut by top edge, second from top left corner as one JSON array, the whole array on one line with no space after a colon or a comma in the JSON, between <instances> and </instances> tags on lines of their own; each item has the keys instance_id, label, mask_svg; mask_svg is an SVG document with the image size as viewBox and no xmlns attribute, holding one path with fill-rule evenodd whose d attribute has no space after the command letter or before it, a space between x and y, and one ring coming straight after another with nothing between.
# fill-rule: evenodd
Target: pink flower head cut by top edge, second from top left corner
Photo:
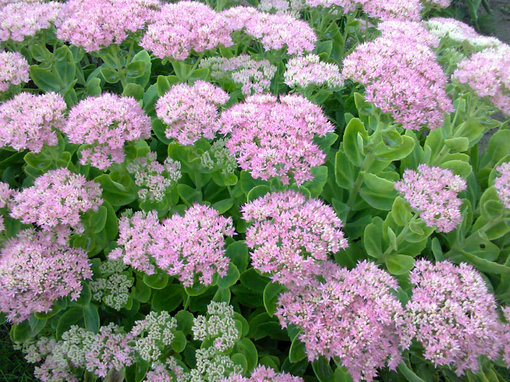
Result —
<instances>
[{"instance_id":1,"label":"pink flower head cut by top edge, second from top left corner","mask_svg":"<svg viewBox=\"0 0 510 382\"><path fill-rule=\"evenodd\" d=\"M157 9L158 0L70 0L57 36L86 51L99 50L143 29Z\"/></svg>"}]
</instances>

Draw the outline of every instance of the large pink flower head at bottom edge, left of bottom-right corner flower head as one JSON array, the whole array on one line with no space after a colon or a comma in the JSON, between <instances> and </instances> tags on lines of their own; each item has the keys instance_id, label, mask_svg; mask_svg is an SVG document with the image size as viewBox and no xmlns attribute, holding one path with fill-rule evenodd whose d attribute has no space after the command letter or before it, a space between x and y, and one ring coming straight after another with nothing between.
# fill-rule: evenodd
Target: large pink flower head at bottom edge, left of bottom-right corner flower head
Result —
<instances>
[{"instance_id":1,"label":"large pink flower head at bottom edge, left of bottom-right corner flower head","mask_svg":"<svg viewBox=\"0 0 510 382\"><path fill-rule=\"evenodd\" d=\"M278 298L283 328L296 325L310 361L337 357L352 379L371 382L377 368L394 370L414 336L392 290L398 283L366 260L348 270L333 262L317 265L307 282L289 284Z\"/></svg>"}]
</instances>

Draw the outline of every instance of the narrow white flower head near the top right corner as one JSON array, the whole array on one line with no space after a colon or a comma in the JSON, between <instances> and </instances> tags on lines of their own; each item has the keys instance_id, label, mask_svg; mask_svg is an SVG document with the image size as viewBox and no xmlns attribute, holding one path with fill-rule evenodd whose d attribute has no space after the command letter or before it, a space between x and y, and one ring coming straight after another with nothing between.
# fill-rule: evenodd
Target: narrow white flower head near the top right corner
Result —
<instances>
[{"instance_id":1,"label":"narrow white flower head near the top right corner","mask_svg":"<svg viewBox=\"0 0 510 382\"><path fill-rule=\"evenodd\" d=\"M470 47L473 50L496 48L501 45L501 41L497 38L481 36L472 26L454 18L432 17L426 21L426 24L432 35L441 40L447 40L450 42L449 45L455 43L463 48Z\"/></svg>"}]
</instances>

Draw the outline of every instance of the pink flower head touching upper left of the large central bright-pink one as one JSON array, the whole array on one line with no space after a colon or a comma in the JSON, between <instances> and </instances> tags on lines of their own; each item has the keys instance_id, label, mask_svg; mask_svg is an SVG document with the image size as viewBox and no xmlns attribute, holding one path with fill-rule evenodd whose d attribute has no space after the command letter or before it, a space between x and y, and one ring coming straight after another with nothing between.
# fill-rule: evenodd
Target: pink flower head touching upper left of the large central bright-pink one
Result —
<instances>
[{"instance_id":1,"label":"pink flower head touching upper left of the large central bright-pink one","mask_svg":"<svg viewBox=\"0 0 510 382\"><path fill-rule=\"evenodd\" d=\"M158 118L168 125L165 137L182 145L214 139L220 128L218 108L228 98L224 90L202 80L172 86L156 103Z\"/></svg>"}]
</instances>

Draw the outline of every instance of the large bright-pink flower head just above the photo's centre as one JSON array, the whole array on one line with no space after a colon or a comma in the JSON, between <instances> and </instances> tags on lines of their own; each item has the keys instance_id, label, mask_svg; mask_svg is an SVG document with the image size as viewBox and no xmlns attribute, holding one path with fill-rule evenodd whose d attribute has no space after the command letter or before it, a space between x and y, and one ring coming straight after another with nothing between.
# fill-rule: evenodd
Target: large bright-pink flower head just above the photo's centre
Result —
<instances>
[{"instance_id":1,"label":"large bright-pink flower head just above the photo's centre","mask_svg":"<svg viewBox=\"0 0 510 382\"><path fill-rule=\"evenodd\" d=\"M225 146L253 178L291 177L300 185L313 179L312 167L324 163L325 154L314 135L334 131L321 108L299 95L280 98L269 94L247 97L224 111L221 133L231 133Z\"/></svg>"}]
</instances>

